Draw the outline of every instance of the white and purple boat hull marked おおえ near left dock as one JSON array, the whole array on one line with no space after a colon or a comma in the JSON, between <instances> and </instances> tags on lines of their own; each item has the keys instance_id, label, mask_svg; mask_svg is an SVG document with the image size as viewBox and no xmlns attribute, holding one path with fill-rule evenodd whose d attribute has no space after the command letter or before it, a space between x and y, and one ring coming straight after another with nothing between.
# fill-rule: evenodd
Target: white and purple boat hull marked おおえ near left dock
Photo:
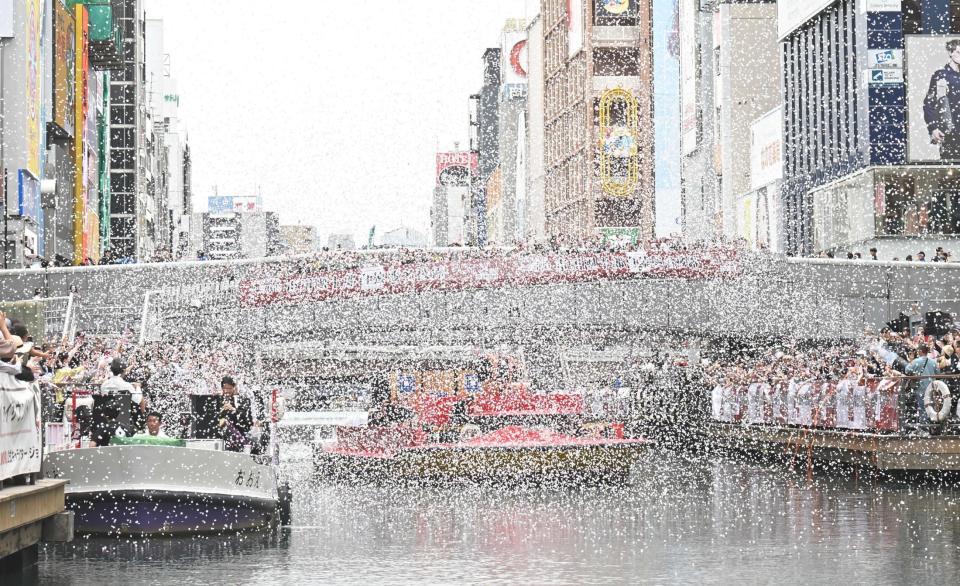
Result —
<instances>
[{"instance_id":1,"label":"white and purple boat hull marked \u304a\u304a\u3048 near left dock","mask_svg":"<svg viewBox=\"0 0 960 586\"><path fill-rule=\"evenodd\" d=\"M162 446L53 452L43 474L70 480L80 533L199 534L269 526L277 516L272 468L246 454Z\"/></svg>"}]
</instances>

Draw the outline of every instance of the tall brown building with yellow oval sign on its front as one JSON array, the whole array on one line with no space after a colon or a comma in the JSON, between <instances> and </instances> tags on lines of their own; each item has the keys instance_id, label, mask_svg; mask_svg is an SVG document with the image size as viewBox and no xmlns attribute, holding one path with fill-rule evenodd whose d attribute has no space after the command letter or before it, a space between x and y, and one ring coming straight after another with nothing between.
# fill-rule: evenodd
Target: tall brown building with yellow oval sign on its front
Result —
<instances>
[{"instance_id":1,"label":"tall brown building with yellow oval sign on its front","mask_svg":"<svg viewBox=\"0 0 960 586\"><path fill-rule=\"evenodd\" d=\"M545 221L550 237L654 232L650 0L544 0Z\"/></svg>"}]
</instances>

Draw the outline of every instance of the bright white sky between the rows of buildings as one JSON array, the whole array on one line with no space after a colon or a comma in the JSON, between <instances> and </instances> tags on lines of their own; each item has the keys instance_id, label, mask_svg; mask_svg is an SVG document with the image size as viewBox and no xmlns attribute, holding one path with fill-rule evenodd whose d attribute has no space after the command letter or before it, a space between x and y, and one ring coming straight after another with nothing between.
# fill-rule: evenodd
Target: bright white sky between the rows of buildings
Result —
<instances>
[{"instance_id":1,"label":"bright white sky between the rows of buildings","mask_svg":"<svg viewBox=\"0 0 960 586\"><path fill-rule=\"evenodd\" d=\"M481 56L525 0L145 0L164 20L195 206L256 193L362 241L429 227L434 154L466 146Z\"/></svg>"}]
</instances>

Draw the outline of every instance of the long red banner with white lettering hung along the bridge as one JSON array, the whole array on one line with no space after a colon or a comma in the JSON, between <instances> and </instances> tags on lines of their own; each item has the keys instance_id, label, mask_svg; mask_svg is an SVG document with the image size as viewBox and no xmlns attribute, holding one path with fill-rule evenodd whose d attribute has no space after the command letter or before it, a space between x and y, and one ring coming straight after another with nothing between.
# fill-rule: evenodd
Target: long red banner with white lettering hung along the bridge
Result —
<instances>
[{"instance_id":1,"label":"long red banner with white lettering hung along the bridge","mask_svg":"<svg viewBox=\"0 0 960 586\"><path fill-rule=\"evenodd\" d=\"M708 279L740 272L733 251L713 253L571 253L464 258L248 279L245 306L297 304L419 291L457 291L632 278Z\"/></svg>"}]
</instances>

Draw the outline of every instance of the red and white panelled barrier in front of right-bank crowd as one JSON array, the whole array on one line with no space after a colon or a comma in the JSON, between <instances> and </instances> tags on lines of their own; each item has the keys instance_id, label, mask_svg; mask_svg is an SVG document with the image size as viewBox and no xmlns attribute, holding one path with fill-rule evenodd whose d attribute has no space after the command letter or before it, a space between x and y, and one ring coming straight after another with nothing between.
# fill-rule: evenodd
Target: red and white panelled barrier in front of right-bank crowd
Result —
<instances>
[{"instance_id":1,"label":"red and white panelled barrier in front of right-bank crowd","mask_svg":"<svg viewBox=\"0 0 960 586\"><path fill-rule=\"evenodd\" d=\"M899 398L909 379L717 385L711 417L723 423L872 432L901 429Z\"/></svg>"}]
</instances>

